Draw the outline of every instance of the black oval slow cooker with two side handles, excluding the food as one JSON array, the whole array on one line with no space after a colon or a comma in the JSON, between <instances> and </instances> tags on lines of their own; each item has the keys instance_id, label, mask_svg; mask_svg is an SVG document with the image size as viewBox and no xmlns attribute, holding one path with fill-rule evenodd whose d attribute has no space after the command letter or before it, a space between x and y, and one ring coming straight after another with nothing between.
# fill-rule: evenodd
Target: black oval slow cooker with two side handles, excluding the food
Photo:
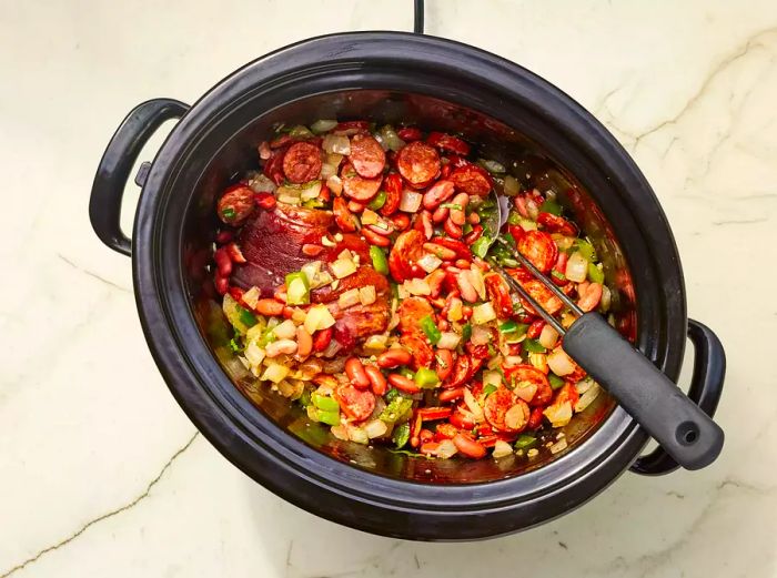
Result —
<instances>
[{"instance_id":1,"label":"black oval slow cooker with two side handles, excluding the food","mask_svg":"<svg viewBox=\"0 0 777 578\"><path fill-rule=\"evenodd\" d=\"M605 261L618 327L676 379L686 336L695 348L689 396L713 414L725 356L715 335L686 318L679 257L664 213L623 148L589 113L543 79L468 45L398 32L321 37L240 69L193 107L144 102L100 163L92 225L132 255L149 347L171 392L234 465L297 506L362 530L407 539L503 535L568 513L622 473L677 466L601 396L567 426L569 448L536 459L426 460L337 442L240 374L223 346L206 265L216 195L255 169L255 145L276 122L317 119L415 122L463 133L481 152L531 171L576 213ZM180 119L142 185L132 240L121 197L142 145ZM515 163L513 161L516 161ZM637 459L638 458L638 459Z\"/></svg>"}]
</instances>

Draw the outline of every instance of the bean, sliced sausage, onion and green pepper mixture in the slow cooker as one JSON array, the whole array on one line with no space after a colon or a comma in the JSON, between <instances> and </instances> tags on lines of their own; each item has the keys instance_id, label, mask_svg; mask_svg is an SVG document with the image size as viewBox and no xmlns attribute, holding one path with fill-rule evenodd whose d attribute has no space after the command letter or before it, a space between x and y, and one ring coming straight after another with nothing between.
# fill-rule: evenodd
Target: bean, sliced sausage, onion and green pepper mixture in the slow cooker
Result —
<instances>
[{"instance_id":1,"label":"bean, sliced sausage, onion and green pepper mixture in the slow cooker","mask_svg":"<svg viewBox=\"0 0 777 578\"><path fill-rule=\"evenodd\" d=\"M583 311L607 312L602 264L555 191L416 126L321 120L258 152L261 171L218 200L213 255L246 369L344 440L434 458L531 458L542 432L566 447L551 428L599 386L490 265L574 322L491 244L495 191L512 197L503 237Z\"/></svg>"}]
</instances>

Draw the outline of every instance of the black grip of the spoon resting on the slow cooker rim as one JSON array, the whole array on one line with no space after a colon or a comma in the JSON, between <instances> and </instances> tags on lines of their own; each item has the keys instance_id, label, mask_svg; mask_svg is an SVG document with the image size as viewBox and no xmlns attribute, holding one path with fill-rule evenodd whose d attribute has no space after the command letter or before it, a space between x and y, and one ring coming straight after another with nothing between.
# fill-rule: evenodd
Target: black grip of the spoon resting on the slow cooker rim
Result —
<instances>
[{"instance_id":1,"label":"black grip of the spoon resting on the slow cooker rim","mask_svg":"<svg viewBox=\"0 0 777 578\"><path fill-rule=\"evenodd\" d=\"M604 317L586 313L575 321L563 348L680 466L699 469L720 454L723 429Z\"/></svg>"}]
</instances>

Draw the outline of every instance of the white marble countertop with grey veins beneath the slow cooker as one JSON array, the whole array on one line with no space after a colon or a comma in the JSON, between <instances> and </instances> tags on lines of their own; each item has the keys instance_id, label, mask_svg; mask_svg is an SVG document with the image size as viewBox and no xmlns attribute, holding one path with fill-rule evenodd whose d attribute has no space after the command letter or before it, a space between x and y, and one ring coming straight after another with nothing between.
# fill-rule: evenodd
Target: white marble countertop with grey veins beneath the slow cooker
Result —
<instances>
[{"instance_id":1,"label":"white marble countertop with grey veins beneath the slow cooker","mask_svg":"<svg viewBox=\"0 0 777 578\"><path fill-rule=\"evenodd\" d=\"M777 3L428 4L428 33L556 83L645 171L688 311L727 346L722 458L626 474L552 524L464 545L379 538L276 498L168 393L130 262L89 225L92 178L137 103L192 102L310 36L408 30L410 0L0 0L0 578L777 576Z\"/></svg>"}]
</instances>

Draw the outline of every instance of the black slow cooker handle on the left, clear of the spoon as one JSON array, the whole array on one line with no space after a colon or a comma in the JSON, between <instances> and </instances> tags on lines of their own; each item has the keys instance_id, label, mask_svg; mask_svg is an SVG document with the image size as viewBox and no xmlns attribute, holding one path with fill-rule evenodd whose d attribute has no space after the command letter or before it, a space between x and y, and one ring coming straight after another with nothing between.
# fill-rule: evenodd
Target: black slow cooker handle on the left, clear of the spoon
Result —
<instances>
[{"instance_id":1,"label":"black slow cooker handle on the left, clear of the spoon","mask_svg":"<svg viewBox=\"0 0 777 578\"><path fill-rule=\"evenodd\" d=\"M132 242L120 226L121 199L140 151L160 125L180 119L189 107L172 99L154 99L135 107L122 121L100 160L92 194L89 220L92 229L113 251L130 255Z\"/></svg>"}]
</instances>

